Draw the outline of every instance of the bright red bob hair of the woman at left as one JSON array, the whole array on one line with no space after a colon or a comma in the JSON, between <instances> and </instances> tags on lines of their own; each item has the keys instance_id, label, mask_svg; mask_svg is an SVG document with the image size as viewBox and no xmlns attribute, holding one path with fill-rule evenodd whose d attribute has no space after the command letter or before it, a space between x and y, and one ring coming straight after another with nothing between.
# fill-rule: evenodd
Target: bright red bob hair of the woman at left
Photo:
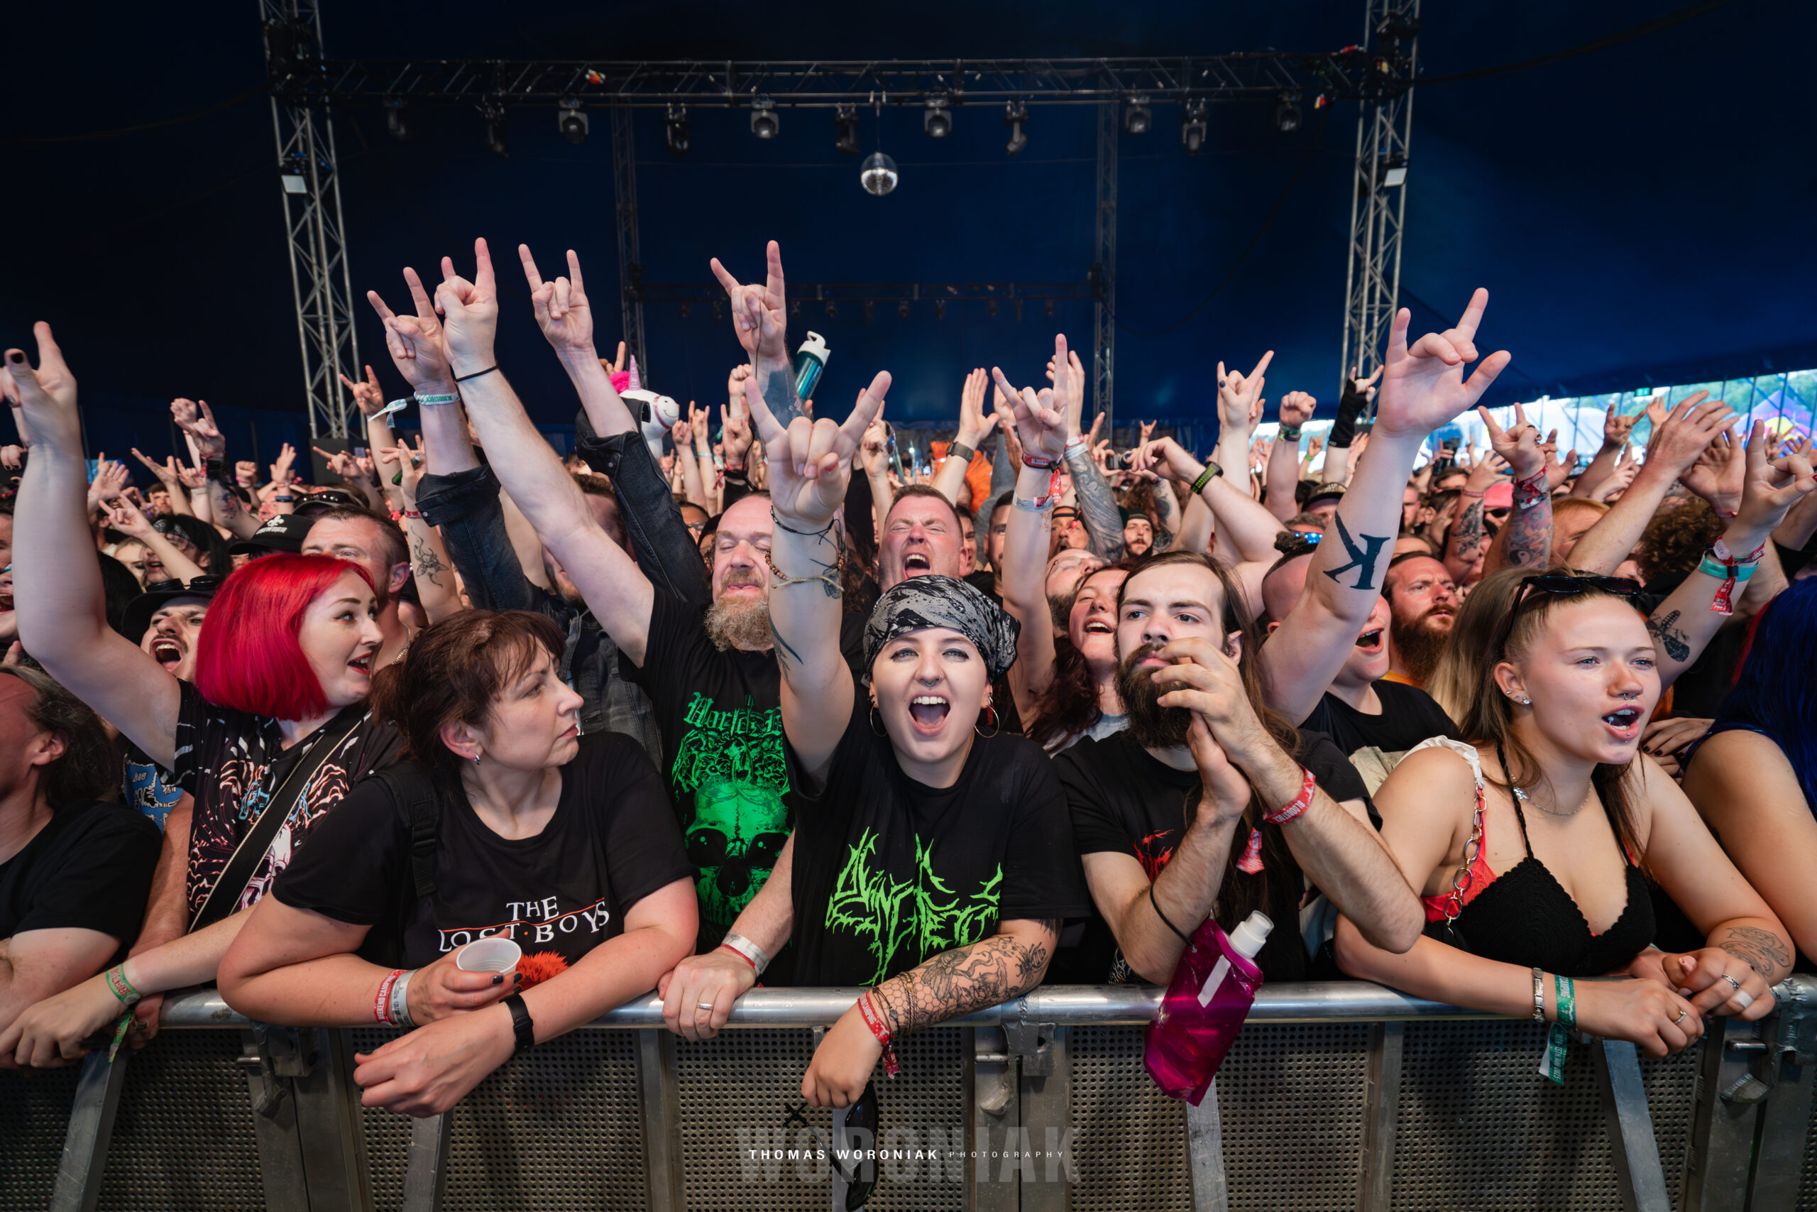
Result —
<instances>
[{"instance_id":1,"label":"bright red bob hair of the woman at left","mask_svg":"<svg viewBox=\"0 0 1817 1212\"><path fill-rule=\"evenodd\" d=\"M343 572L372 578L333 556L265 556L229 576L202 620L196 690L222 707L274 720L309 720L329 709L296 634L303 611Z\"/></svg>"}]
</instances>

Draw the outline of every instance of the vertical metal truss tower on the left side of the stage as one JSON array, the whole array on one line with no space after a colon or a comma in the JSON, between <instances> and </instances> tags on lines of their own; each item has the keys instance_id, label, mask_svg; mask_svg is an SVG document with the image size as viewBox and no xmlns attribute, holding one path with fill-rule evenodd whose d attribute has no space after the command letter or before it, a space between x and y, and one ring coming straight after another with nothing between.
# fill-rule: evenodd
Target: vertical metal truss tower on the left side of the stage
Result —
<instances>
[{"instance_id":1,"label":"vertical metal truss tower on the left side of the stage","mask_svg":"<svg viewBox=\"0 0 1817 1212\"><path fill-rule=\"evenodd\" d=\"M314 0L260 0L265 67L274 82L271 127L283 187L283 233L291 247L296 342L303 354L309 436L345 438L349 400L340 376L360 380L360 338L352 325L352 278L343 240L334 127L325 105L280 100L278 82L322 58L322 16Z\"/></svg>"}]
</instances>

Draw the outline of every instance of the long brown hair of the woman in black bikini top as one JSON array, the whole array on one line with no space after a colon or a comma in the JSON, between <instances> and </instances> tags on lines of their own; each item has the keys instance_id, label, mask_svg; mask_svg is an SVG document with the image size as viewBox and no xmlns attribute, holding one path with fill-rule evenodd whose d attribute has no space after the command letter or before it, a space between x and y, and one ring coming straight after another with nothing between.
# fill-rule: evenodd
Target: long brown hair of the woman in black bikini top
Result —
<instances>
[{"instance_id":1,"label":"long brown hair of the woman in black bikini top","mask_svg":"<svg viewBox=\"0 0 1817 1212\"><path fill-rule=\"evenodd\" d=\"M1544 571L1548 576L1577 576L1564 565ZM1501 780L1484 774L1484 781L1514 794L1512 785L1532 787L1550 781L1544 767L1534 752L1521 743L1514 730L1514 703L1495 685L1495 665L1503 661L1519 663L1534 651L1534 641L1546 629L1552 614L1564 605L1577 601L1595 601L1606 598L1621 601L1632 609L1632 601L1617 594L1586 585L1575 594L1554 594L1543 589L1528 591L1526 578L1534 569L1501 569L1484 576L1470 596L1465 609L1452 623L1452 640L1445 652L1445 661L1452 663L1452 676L1461 700L1461 710L1452 712L1457 721L1457 734L1468 745L1495 747L1508 769ZM1512 627L1508 625L1512 614ZM1466 618L1470 616L1470 618ZM1506 636L1506 638L1503 638ZM1441 661L1441 667L1443 663ZM1443 703L1441 703L1443 705ZM1446 707L1446 710L1450 710ZM1608 812L1615 829L1615 839L1635 858L1641 870L1646 870L1646 856L1641 852L1639 832L1633 825L1632 780L1633 760L1623 763L1597 763L1590 772L1590 787Z\"/></svg>"}]
</instances>

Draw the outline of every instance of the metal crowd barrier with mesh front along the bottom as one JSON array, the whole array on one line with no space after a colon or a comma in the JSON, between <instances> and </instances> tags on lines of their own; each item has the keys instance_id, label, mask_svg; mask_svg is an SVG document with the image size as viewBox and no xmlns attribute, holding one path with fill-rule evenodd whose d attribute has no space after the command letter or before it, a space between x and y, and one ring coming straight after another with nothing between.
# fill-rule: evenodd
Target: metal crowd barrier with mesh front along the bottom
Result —
<instances>
[{"instance_id":1,"label":"metal crowd barrier with mesh front along the bottom","mask_svg":"<svg viewBox=\"0 0 1817 1212\"><path fill-rule=\"evenodd\" d=\"M879 1079L869 1207L1817 1212L1817 979L1653 1061L1365 983L1270 985L1188 1108L1141 1063L1152 987L1056 987L921 1032ZM451 1114L360 1107L389 1028L256 1027L214 990L113 1065L0 1079L0 1208L843 1208L801 1105L858 990L754 990L720 1039L654 998L538 1047ZM794 1154L790 1150L796 1150Z\"/></svg>"}]
</instances>

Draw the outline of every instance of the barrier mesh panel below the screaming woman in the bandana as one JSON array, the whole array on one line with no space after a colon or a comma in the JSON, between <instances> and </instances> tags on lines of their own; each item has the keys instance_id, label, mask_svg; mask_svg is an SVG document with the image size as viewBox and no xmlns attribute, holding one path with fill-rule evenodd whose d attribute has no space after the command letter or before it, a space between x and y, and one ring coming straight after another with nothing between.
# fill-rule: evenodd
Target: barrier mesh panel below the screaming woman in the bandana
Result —
<instances>
[{"instance_id":1,"label":"barrier mesh panel below the screaming woman in the bandana","mask_svg":"<svg viewBox=\"0 0 1817 1212\"><path fill-rule=\"evenodd\" d=\"M876 1070L879 1148L905 1150L879 1163L869 1208L958 1208L959 1161L927 1161L914 1150L954 1156L965 1139L963 1047L956 1027L916 1032L898 1048L901 1072ZM729 1030L705 1043L676 1041L681 1119L681 1185L690 1212L823 1212L829 1163L818 1157L752 1157L750 1150L814 1150L830 1130L827 1110L801 1107L801 1074L814 1054L809 1030ZM792 1114L794 1112L794 1114Z\"/></svg>"}]
</instances>

